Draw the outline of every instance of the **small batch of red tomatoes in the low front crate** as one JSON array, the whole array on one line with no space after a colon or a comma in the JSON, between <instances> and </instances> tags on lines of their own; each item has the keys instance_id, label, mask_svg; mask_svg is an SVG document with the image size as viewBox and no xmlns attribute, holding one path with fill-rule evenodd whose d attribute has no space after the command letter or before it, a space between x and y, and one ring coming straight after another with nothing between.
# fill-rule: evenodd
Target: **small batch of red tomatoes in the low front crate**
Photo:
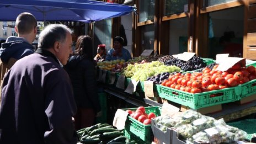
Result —
<instances>
[{"instance_id":1,"label":"small batch of red tomatoes in the low front crate","mask_svg":"<svg viewBox=\"0 0 256 144\"><path fill-rule=\"evenodd\" d=\"M136 109L136 111L131 111L130 109L126 110L127 113L129 113L129 115L140 121L142 124L144 125L150 125L151 124L151 119L152 118L156 118L156 114L154 113L149 113L146 114L145 112L145 107L144 106L140 106Z\"/></svg>"}]
</instances>

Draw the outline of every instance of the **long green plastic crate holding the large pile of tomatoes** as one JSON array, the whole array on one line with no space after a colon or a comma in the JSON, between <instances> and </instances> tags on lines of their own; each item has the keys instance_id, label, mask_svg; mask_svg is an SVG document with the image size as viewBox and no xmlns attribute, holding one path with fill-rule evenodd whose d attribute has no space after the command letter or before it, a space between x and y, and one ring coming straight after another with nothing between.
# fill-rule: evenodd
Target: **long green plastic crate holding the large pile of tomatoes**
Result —
<instances>
[{"instance_id":1,"label":"long green plastic crate holding the large pile of tomatoes","mask_svg":"<svg viewBox=\"0 0 256 144\"><path fill-rule=\"evenodd\" d=\"M234 102L239 100L241 94L241 90L235 87L193 94L157 84L157 90L159 97L192 109Z\"/></svg>"}]
</instances>

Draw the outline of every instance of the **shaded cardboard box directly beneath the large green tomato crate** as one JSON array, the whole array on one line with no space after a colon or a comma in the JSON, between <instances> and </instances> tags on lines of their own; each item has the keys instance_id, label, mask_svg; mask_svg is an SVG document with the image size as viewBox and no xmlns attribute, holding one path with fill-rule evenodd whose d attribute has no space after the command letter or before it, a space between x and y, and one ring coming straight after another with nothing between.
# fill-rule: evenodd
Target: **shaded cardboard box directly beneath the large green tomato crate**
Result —
<instances>
[{"instance_id":1,"label":"shaded cardboard box directly beneath the large green tomato crate","mask_svg":"<svg viewBox=\"0 0 256 144\"><path fill-rule=\"evenodd\" d=\"M180 108L180 111L186 111L188 109L190 109L188 106L182 105L182 107ZM221 106L221 104L218 104L218 105L213 105L213 106L208 106L208 107L205 107L205 108L200 108L200 109L196 109L196 110L193 109L193 110L198 111L199 113L204 115L204 114L216 113L218 111L221 111L222 106Z\"/></svg>"}]
</instances>

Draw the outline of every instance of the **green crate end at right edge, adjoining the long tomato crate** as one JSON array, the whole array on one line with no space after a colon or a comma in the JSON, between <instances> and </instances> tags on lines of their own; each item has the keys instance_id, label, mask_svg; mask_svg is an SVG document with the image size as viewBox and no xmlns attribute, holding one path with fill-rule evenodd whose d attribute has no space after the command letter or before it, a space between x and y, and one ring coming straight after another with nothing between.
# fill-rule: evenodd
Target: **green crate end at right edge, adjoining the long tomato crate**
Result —
<instances>
[{"instance_id":1,"label":"green crate end at right edge, adjoining the long tomato crate","mask_svg":"<svg viewBox=\"0 0 256 144\"><path fill-rule=\"evenodd\" d=\"M248 97L256 93L256 79L247 83L240 84L238 87L241 88L241 98Z\"/></svg>"}]
</instances>

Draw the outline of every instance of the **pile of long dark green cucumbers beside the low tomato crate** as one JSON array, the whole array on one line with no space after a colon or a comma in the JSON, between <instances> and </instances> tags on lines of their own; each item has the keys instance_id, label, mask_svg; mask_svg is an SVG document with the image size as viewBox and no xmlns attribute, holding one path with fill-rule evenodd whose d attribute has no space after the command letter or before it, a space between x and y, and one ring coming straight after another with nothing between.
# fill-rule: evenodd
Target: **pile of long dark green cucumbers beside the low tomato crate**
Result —
<instances>
[{"instance_id":1,"label":"pile of long dark green cucumbers beside the low tomato crate","mask_svg":"<svg viewBox=\"0 0 256 144\"><path fill-rule=\"evenodd\" d=\"M129 143L129 138L123 136L124 132L115 129L109 124L96 124L77 131L80 143ZM131 142L135 143L135 141Z\"/></svg>"}]
</instances>

